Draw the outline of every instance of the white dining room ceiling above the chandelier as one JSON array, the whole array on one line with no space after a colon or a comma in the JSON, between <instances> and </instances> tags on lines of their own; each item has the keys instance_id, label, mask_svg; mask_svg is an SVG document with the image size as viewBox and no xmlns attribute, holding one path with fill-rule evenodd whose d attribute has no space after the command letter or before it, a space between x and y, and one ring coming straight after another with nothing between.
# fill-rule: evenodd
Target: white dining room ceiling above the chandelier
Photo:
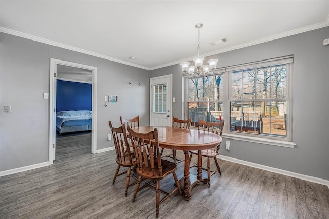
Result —
<instances>
[{"instance_id":1,"label":"white dining room ceiling above the chandelier","mask_svg":"<svg viewBox=\"0 0 329 219\"><path fill-rule=\"evenodd\" d=\"M329 26L329 0L0 0L0 32L147 70L195 57L197 23L208 56Z\"/></svg>"}]
</instances>

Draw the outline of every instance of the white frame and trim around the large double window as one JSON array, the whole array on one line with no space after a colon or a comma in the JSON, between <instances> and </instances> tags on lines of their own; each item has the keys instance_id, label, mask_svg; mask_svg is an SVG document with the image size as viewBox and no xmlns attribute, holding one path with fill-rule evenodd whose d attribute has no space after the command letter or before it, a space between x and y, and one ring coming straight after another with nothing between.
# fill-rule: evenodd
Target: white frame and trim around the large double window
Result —
<instances>
[{"instance_id":1,"label":"white frame and trim around the large double window","mask_svg":"<svg viewBox=\"0 0 329 219\"><path fill-rule=\"evenodd\" d=\"M222 137L232 139L232 140L240 140L247 142L255 142L261 144L269 144L269 145L277 145L282 147L293 148L296 144L293 142L293 55L267 59L266 61L253 62L243 65L229 66L224 68L218 68L215 70L214 74L223 74L223 82L224 82L224 99L223 99L223 118L225 121L225 128L223 130ZM268 65L279 65L279 64L287 64L287 121L286 121L286 137L275 137L275 136L267 136L260 134L251 134L244 132L233 132L230 131L230 73L235 70L243 70L247 68L258 68ZM188 76L185 76L185 117L187 117L188 113ZM193 128L193 127L192 127Z\"/></svg>"}]
</instances>

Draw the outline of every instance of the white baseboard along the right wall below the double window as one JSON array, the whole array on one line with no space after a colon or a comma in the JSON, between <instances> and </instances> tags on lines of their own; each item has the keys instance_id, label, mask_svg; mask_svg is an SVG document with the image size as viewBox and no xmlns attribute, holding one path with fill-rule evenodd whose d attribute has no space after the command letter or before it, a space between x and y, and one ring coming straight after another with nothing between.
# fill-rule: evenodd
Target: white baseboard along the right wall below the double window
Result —
<instances>
[{"instance_id":1,"label":"white baseboard along the right wall below the double window","mask_svg":"<svg viewBox=\"0 0 329 219\"><path fill-rule=\"evenodd\" d=\"M270 172L279 173L279 174L286 175L286 176L299 178L301 180L305 180L305 181L309 181L309 182L313 182L313 183L318 183L318 184L321 184L321 185L326 185L329 188L329 180L323 180L322 178L317 178L317 177L314 177L314 176L308 176L308 175L303 175L303 174L300 174L300 173L281 170L281 169L274 168L274 167L269 167L269 166L265 166L265 165L261 165L261 164L256 164L256 163L252 163L252 162L248 162L248 161L239 160L239 159L232 158L232 157L229 157L229 156L218 155L217 158L225 160L225 161L230 161L230 162L234 162L234 163L243 164L243 165L246 165L246 166L262 169L262 170L267 170L267 171L270 171Z\"/></svg>"}]
</instances>

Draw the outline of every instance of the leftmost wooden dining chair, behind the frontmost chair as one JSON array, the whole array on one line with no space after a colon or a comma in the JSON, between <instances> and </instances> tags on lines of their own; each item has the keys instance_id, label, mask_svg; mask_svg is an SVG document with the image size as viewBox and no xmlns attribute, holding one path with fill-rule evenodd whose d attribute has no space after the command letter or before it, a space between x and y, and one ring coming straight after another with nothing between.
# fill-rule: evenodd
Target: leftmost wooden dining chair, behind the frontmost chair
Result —
<instances>
[{"instance_id":1,"label":"leftmost wooden dining chair, behind the frontmost chair","mask_svg":"<svg viewBox=\"0 0 329 219\"><path fill-rule=\"evenodd\" d=\"M113 136L114 148L116 152L115 161L118 164L113 177L112 184L114 184L117 176L127 174L126 176L127 178L125 182L125 192L124 192L124 196L126 197L128 194L128 188L137 183L137 181L135 181L134 183L130 184L131 168L137 165L137 160L136 157L134 156L133 151L127 150L126 145L128 144L127 144L127 133L126 133L125 125L123 124L123 126L115 128L113 127L111 121L109 121L108 124ZM126 167L127 170L119 173L120 167ZM134 178L137 180L137 177Z\"/></svg>"}]
</instances>

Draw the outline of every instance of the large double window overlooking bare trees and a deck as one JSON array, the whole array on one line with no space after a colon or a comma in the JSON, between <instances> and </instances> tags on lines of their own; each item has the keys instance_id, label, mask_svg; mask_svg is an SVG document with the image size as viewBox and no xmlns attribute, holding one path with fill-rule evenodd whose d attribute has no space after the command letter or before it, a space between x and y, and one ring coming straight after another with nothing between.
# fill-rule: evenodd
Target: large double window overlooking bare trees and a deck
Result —
<instances>
[{"instance_id":1,"label":"large double window overlooking bare trees and a deck","mask_svg":"<svg viewBox=\"0 0 329 219\"><path fill-rule=\"evenodd\" d=\"M225 133L292 140L289 89L293 56L217 69L187 78L187 115L225 119Z\"/></svg>"}]
</instances>

